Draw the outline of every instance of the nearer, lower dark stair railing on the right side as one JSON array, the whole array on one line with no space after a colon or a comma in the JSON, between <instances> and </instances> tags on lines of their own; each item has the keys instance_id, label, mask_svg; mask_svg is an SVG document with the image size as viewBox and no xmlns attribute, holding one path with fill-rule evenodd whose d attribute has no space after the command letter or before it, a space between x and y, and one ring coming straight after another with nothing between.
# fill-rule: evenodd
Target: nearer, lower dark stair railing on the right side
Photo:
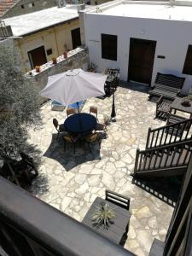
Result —
<instances>
[{"instance_id":1,"label":"nearer, lower dark stair railing on the right side","mask_svg":"<svg viewBox=\"0 0 192 256\"><path fill-rule=\"evenodd\" d=\"M192 140L143 151L137 149L134 173L185 168L192 151Z\"/></svg>"}]
</instances>

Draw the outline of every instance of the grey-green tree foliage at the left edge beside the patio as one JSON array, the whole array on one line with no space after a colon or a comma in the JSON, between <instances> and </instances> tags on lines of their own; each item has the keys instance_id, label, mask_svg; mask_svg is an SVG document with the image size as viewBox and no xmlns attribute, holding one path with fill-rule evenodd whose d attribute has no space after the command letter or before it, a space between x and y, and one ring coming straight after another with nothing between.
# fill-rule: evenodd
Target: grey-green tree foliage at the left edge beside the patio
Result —
<instances>
[{"instance_id":1,"label":"grey-green tree foliage at the left edge beside the patio","mask_svg":"<svg viewBox=\"0 0 192 256\"><path fill-rule=\"evenodd\" d=\"M39 96L20 71L13 44L0 44L0 146L1 154L26 151L28 127L40 120Z\"/></svg>"}]
</instances>

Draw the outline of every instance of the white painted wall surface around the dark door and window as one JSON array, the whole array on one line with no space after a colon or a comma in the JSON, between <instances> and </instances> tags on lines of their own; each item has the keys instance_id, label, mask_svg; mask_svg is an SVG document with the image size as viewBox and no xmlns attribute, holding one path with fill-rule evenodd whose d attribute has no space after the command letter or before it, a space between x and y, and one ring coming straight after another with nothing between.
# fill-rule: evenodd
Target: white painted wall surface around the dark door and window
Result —
<instances>
[{"instance_id":1,"label":"white painted wall surface around the dark door and window","mask_svg":"<svg viewBox=\"0 0 192 256\"><path fill-rule=\"evenodd\" d=\"M106 67L119 67L121 79L127 80L130 38L141 38L157 41L152 84L157 72L172 73L185 77L183 93L192 88L192 76L184 75L188 45L192 44L192 22L178 20L155 20L131 17L120 17L101 14L84 14L85 42L89 48L90 61L96 63L98 71ZM102 59L101 34L118 36L118 59ZM165 55L166 59L158 59Z\"/></svg>"}]
</instances>

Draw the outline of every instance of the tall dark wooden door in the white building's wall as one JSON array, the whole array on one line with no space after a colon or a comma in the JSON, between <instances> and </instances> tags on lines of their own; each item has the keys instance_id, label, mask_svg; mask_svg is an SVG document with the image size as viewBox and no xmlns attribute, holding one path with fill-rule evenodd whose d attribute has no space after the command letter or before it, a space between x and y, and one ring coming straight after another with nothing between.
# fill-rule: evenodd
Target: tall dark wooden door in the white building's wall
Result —
<instances>
[{"instance_id":1,"label":"tall dark wooden door in the white building's wall","mask_svg":"<svg viewBox=\"0 0 192 256\"><path fill-rule=\"evenodd\" d=\"M130 38L128 81L151 84L156 41Z\"/></svg>"}]
</instances>

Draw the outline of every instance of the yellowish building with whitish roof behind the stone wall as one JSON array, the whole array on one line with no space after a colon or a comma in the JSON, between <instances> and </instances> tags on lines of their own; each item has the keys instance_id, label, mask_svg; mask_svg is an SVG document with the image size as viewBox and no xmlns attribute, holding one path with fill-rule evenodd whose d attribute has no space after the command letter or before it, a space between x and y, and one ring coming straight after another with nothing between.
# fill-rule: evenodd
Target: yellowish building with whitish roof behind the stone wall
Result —
<instances>
[{"instance_id":1,"label":"yellowish building with whitish roof behind the stone wall","mask_svg":"<svg viewBox=\"0 0 192 256\"><path fill-rule=\"evenodd\" d=\"M12 28L24 73L81 45L79 14L73 6L45 9L4 22Z\"/></svg>"}]
</instances>

